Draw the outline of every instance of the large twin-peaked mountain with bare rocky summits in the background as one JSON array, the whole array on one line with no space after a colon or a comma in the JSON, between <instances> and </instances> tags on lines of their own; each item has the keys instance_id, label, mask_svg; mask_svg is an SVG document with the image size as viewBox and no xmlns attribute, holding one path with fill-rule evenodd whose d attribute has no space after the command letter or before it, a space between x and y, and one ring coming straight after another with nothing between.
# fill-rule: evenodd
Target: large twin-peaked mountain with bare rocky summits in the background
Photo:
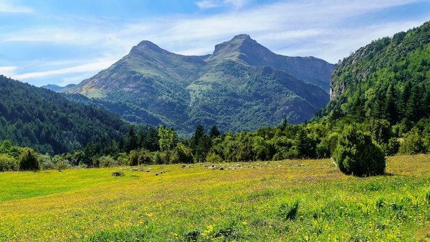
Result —
<instances>
[{"instance_id":1,"label":"large twin-peaked mountain with bare rocky summits in the background","mask_svg":"<svg viewBox=\"0 0 430 242\"><path fill-rule=\"evenodd\" d=\"M122 118L190 133L197 125L251 131L313 117L329 100L334 65L274 54L248 35L183 56L142 41L108 69L68 92L92 98ZM326 87L326 91L320 87Z\"/></svg>"}]
</instances>

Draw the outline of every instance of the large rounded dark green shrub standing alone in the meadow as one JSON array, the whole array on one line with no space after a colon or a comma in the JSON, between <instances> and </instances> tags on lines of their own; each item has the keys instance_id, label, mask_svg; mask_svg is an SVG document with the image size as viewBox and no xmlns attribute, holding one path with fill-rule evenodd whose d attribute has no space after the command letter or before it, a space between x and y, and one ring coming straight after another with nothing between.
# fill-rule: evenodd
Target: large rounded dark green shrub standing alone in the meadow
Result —
<instances>
[{"instance_id":1,"label":"large rounded dark green shrub standing alone in the meadow","mask_svg":"<svg viewBox=\"0 0 430 242\"><path fill-rule=\"evenodd\" d=\"M341 172L347 175L381 175L385 171L385 153L372 142L372 137L357 129L346 126L337 142L335 161Z\"/></svg>"}]
</instances>

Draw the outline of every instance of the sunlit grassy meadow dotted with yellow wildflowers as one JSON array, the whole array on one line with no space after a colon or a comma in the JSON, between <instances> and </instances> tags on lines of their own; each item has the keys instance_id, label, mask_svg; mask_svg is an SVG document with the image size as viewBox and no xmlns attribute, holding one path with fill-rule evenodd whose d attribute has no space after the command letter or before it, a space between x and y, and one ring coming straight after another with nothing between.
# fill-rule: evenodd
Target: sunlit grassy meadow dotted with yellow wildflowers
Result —
<instances>
[{"instance_id":1,"label":"sunlit grassy meadow dotted with yellow wildflowers","mask_svg":"<svg viewBox=\"0 0 430 242\"><path fill-rule=\"evenodd\" d=\"M0 173L0 241L430 241L430 155L389 157L387 173L329 159Z\"/></svg>"}]
</instances>

